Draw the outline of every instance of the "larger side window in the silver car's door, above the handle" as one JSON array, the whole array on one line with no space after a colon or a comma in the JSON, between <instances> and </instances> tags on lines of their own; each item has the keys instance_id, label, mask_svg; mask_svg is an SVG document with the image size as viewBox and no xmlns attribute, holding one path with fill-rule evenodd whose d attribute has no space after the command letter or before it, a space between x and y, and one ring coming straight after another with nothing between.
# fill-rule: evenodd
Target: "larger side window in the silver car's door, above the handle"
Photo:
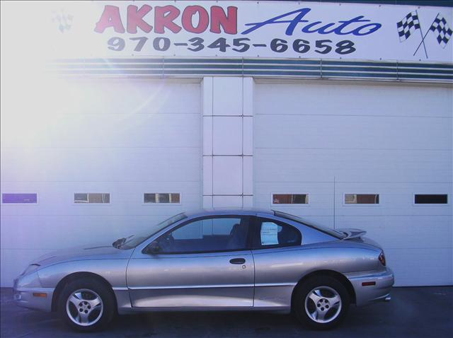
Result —
<instances>
[{"instance_id":1,"label":"larger side window in the silver car's door, above the handle","mask_svg":"<svg viewBox=\"0 0 453 338\"><path fill-rule=\"evenodd\" d=\"M158 240L159 253L243 250L247 247L248 217L212 217L191 221Z\"/></svg>"}]
</instances>

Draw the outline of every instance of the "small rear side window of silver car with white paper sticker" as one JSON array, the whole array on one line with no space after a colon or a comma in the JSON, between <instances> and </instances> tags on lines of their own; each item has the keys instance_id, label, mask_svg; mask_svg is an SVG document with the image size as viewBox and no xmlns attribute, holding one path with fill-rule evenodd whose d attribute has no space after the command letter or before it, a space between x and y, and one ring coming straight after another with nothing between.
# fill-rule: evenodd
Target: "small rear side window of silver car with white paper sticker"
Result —
<instances>
[{"instance_id":1,"label":"small rear side window of silver car with white paper sticker","mask_svg":"<svg viewBox=\"0 0 453 338\"><path fill-rule=\"evenodd\" d=\"M268 218L258 218L258 240L255 247L285 247L301 245L302 235L287 223Z\"/></svg>"}]
</instances>

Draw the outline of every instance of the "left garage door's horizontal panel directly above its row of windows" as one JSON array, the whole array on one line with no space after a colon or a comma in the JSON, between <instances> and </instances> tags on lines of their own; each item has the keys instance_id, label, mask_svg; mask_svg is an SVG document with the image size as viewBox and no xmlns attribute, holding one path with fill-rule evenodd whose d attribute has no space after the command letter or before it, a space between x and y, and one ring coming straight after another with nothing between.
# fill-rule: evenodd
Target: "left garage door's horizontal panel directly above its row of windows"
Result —
<instances>
[{"instance_id":1,"label":"left garage door's horizontal panel directly above its row of windows","mask_svg":"<svg viewBox=\"0 0 453 338\"><path fill-rule=\"evenodd\" d=\"M196 147L5 148L1 180L199 181L199 157Z\"/></svg>"}]
</instances>

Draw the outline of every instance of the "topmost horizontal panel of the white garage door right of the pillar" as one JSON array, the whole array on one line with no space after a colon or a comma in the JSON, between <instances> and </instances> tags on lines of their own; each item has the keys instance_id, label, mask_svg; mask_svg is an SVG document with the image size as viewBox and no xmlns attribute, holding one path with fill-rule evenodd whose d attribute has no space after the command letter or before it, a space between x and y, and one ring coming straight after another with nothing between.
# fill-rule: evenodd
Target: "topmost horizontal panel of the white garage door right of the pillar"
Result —
<instances>
[{"instance_id":1,"label":"topmost horizontal panel of the white garage door right of the pillar","mask_svg":"<svg viewBox=\"0 0 453 338\"><path fill-rule=\"evenodd\" d=\"M370 95L373 93L373 95ZM447 109L433 109L426 98L435 96L438 107L452 107L451 88L336 83L259 83L256 114L261 115L368 115L448 117ZM265 98L265 100L263 100ZM391 111L389 111L391 103Z\"/></svg>"}]
</instances>

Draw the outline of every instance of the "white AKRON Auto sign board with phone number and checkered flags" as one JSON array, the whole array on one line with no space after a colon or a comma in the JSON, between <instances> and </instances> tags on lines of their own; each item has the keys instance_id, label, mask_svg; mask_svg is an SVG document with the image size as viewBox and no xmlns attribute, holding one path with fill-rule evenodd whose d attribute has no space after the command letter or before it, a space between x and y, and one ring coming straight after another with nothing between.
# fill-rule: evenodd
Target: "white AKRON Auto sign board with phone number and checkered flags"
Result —
<instances>
[{"instance_id":1,"label":"white AKRON Auto sign board with phone number and checkered flags","mask_svg":"<svg viewBox=\"0 0 453 338\"><path fill-rule=\"evenodd\" d=\"M453 62L453 9L309 1L39 5L52 57L272 57Z\"/></svg>"}]
</instances>

